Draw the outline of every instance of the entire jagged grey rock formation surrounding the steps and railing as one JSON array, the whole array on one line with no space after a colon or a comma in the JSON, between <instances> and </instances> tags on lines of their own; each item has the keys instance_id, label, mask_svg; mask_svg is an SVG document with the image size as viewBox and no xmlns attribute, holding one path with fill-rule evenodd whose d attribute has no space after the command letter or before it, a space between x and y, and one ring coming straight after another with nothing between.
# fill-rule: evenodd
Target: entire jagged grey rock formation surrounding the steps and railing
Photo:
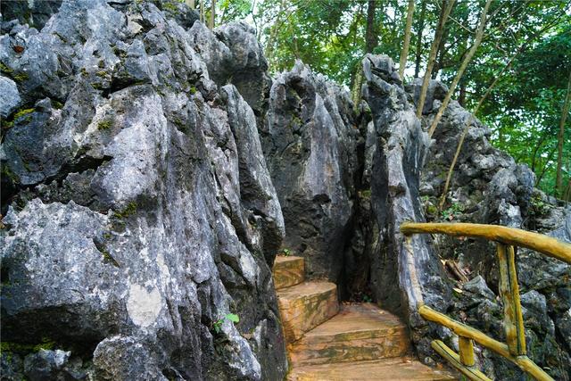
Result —
<instances>
[{"instance_id":1,"label":"entire jagged grey rock formation surrounding the steps and railing","mask_svg":"<svg viewBox=\"0 0 571 381\"><path fill-rule=\"evenodd\" d=\"M426 362L441 360L431 339L457 342L419 318L420 300L501 339L493 245L399 230L441 217L469 118L452 101L429 140L443 84L418 120L418 82L403 87L385 55L363 61L354 105L302 62L271 79L252 27L210 30L175 0L1 11L2 377L283 379L270 269L286 248L343 300L399 313ZM447 219L570 241L568 207L489 137L473 120ZM454 285L439 257L472 280ZM517 258L530 355L568 379L569 266ZM478 356L490 376L522 377Z\"/></svg>"}]
</instances>

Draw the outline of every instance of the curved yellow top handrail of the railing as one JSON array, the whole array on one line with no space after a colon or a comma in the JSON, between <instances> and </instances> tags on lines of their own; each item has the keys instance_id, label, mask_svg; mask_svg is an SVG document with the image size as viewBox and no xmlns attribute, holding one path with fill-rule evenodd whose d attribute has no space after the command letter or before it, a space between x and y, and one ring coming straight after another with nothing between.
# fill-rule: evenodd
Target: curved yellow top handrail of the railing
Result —
<instances>
[{"instance_id":1,"label":"curved yellow top handrail of the railing","mask_svg":"<svg viewBox=\"0 0 571 381\"><path fill-rule=\"evenodd\" d=\"M561 242L550 236L525 231L518 228L507 228L498 225L468 223L417 223L404 222L401 232L405 235L418 233L445 234L448 236L473 236L490 241L526 247L544 253L560 261L571 263L571 244Z\"/></svg>"}]
</instances>

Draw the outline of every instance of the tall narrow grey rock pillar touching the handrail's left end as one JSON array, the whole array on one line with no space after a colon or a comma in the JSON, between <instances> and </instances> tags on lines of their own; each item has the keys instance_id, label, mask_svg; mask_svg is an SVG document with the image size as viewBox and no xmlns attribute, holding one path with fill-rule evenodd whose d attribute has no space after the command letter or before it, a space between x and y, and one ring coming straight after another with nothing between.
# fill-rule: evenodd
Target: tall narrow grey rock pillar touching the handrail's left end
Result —
<instances>
[{"instance_id":1,"label":"tall narrow grey rock pillar touching the handrail's left end","mask_svg":"<svg viewBox=\"0 0 571 381\"><path fill-rule=\"evenodd\" d=\"M426 353L428 327L418 315L418 302L445 311L450 290L426 236L405 238L399 227L407 220L424 219L418 186L429 141L393 61L369 54L363 71L363 98L373 115L377 142L370 170L371 208L380 236L372 256L371 289L383 306L407 317L418 351Z\"/></svg>"}]
</instances>

